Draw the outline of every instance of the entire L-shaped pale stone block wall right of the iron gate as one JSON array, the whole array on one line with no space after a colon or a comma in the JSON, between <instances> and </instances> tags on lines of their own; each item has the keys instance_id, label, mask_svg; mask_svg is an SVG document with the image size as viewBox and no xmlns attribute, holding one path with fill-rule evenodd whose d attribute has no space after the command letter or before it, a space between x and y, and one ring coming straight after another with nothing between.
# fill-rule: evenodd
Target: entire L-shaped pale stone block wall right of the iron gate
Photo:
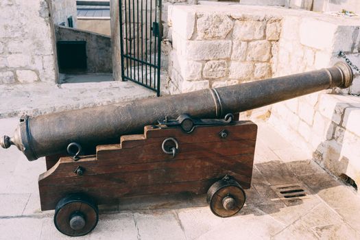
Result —
<instances>
[{"instance_id":1,"label":"entire L-shaped pale stone block wall right of the iron gate","mask_svg":"<svg viewBox=\"0 0 360 240\"><path fill-rule=\"evenodd\" d=\"M342 60L339 51L360 65L359 18L259 6L174 6L169 25L171 93L331 67ZM274 128L308 149L320 165L359 185L359 84L357 75L350 88L298 97L241 117L270 116Z\"/></svg>"}]
</instances>

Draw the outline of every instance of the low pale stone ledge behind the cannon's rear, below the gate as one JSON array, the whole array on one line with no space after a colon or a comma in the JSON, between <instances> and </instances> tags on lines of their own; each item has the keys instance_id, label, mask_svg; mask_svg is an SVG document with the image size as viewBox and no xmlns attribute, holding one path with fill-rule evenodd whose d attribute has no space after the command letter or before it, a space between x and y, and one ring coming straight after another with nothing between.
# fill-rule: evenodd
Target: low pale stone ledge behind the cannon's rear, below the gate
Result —
<instances>
[{"instance_id":1,"label":"low pale stone ledge behind the cannon's rear, below the gate","mask_svg":"<svg viewBox=\"0 0 360 240\"><path fill-rule=\"evenodd\" d=\"M155 92L133 82L96 82L101 77L106 78L106 75L90 75L90 78L85 75L87 81L92 81L85 83L77 76L76 81L80 83L0 84L0 119L118 104L156 96Z\"/></svg>"}]
</instances>

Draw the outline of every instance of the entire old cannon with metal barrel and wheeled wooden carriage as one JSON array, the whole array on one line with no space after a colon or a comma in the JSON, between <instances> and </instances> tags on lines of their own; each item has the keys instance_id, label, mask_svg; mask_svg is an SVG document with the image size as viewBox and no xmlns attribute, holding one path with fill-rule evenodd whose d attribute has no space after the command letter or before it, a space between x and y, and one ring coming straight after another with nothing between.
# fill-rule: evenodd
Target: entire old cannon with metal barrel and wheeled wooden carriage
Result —
<instances>
[{"instance_id":1,"label":"entire old cannon with metal barrel and wheeled wooden carriage","mask_svg":"<svg viewBox=\"0 0 360 240\"><path fill-rule=\"evenodd\" d=\"M81 236L98 221L97 204L119 197L207 193L219 217L238 213L250 188L257 126L232 114L322 91L347 88L352 70L333 67L192 93L21 117L13 137L28 160L46 157L42 210ZM70 156L69 156L70 155Z\"/></svg>"}]
</instances>

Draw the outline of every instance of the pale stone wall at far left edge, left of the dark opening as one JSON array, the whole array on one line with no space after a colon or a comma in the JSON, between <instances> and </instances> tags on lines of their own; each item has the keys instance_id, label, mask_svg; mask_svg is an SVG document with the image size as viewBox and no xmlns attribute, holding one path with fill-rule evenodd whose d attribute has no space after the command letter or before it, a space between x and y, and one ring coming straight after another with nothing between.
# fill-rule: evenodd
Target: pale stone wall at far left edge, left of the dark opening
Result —
<instances>
[{"instance_id":1,"label":"pale stone wall at far left edge, left of the dark opening","mask_svg":"<svg viewBox=\"0 0 360 240\"><path fill-rule=\"evenodd\" d=\"M56 56L47 1L1 0L0 9L0 84L54 82Z\"/></svg>"}]
</instances>

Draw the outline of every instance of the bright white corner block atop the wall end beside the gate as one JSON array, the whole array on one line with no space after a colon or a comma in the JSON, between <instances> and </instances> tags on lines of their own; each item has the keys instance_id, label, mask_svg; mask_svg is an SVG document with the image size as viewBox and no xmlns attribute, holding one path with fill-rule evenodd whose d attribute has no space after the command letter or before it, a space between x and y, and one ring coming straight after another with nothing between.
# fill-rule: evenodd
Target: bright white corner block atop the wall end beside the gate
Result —
<instances>
[{"instance_id":1,"label":"bright white corner block atop the wall end beside the gate","mask_svg":"<svg viewBox=\"0 0 360 240\"><path fill-rule=\"evenodd\" d=\"M169 6L169 21L173 32L176 32L184 39L190 39L195 29L195 12Z\"/></svg>"}]
</instances>

